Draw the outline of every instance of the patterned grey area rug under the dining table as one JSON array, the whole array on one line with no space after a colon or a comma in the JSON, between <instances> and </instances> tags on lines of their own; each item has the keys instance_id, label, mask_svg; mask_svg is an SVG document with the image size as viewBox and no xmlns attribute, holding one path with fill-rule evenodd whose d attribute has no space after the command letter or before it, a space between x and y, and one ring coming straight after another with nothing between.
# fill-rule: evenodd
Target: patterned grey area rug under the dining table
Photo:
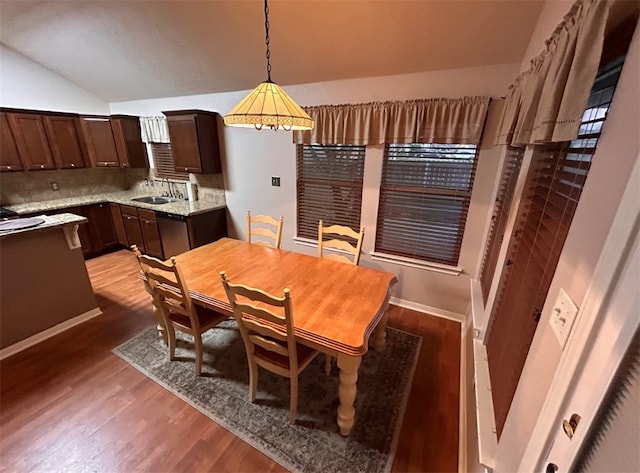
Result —
<instances>
[{"instance_id":1,"label":"patterned grey area rug under the dining table","mask_svg":"<svg viewBox=\"0 0 640 473\"><path fill-rule=\"evenodd\" d=\"M258 394L249 402L248 368L235 321L203 337L203 375L194 374L188 335L178 333L176 360L154 328L113 349L133 367L291 471L388 472L393 464L422 337L387 328L381 353L362 359L356 420L344 438L336 424L338 368L324 373L320 354L299 378L298 417L288 422L289 380L260 368Z\"/></svg>"}]
</instances>

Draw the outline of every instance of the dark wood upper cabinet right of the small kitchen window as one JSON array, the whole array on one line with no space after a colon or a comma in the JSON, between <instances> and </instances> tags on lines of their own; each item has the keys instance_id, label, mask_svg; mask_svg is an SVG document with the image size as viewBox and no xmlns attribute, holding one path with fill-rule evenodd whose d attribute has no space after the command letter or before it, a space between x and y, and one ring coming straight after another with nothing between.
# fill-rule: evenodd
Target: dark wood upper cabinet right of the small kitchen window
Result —
<instances>
[{"instance_id":1,"label":"dark wood upper cabinet right of the small kitchen window","mask_svg":"<svg viewBox=\"0 0 640 473\"><path fill-rule=\"evenodd\" d=\"M162 113L167 117L176 171L199 174L222 172L217 113L204 110Z\"/></svg>"}]
</instances>

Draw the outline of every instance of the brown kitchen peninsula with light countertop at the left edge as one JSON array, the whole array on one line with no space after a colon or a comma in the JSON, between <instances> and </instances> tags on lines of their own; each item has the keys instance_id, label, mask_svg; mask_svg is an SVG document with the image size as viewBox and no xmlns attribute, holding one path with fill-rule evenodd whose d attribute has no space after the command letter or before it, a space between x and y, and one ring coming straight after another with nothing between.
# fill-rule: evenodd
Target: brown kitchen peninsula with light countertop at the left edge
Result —
<instances>
[{"instance_id":1,"label":"brown kitchen peninsula with light countertop at the left edge","mask_svg":"<svg viewBox=\"0 0 640 473\"><path fill-rule=\"evenodd\" d=\"M40 216L0 231L0 359L101 314L78 238L86 219Z\"/></svg>"}]
</instances>

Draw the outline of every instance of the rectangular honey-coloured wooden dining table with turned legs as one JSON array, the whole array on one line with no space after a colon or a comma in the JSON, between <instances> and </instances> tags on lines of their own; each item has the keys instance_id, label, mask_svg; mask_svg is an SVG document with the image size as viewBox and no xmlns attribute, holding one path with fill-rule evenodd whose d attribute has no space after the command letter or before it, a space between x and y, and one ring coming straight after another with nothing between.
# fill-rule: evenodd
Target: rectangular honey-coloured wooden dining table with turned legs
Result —
<instances>
[{"instance_id":1,"label":"rectangular honey-coloured wooden dining table with turned legs","mask_svg":"<svg viewBox=\"0 0 640 473\"><path fill-rule=\"evenodd\" d=\"M394 274L222 238L176 256L195 304L233 315L220 280L276 296L291 291L295 334L300 343L335 356L340 369L337 421L349 435L355 419L358 368L369 339L385 344Z\"/></svg>"}]
</instances>

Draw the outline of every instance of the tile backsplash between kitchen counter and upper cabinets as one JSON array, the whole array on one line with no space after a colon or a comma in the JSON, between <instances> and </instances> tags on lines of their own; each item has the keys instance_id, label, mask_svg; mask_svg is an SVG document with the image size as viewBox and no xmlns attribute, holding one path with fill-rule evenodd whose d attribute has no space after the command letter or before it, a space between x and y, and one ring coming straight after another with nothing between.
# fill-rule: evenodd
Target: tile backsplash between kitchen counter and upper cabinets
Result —
<instances>
[{"instance_id":1,"label":"tile backsplash between kitchen counter and upper cabinets","mask_svg":"<svg viewBox=\"0 0 640 473\"><path fill-rule=\"evenodd\" d=\"M198 185L199 200L225 202L222 174L191 174L190 180ZM185 183L172 183L172 189L186 196ZM161 185L153 169L89 168L0 174L0 205L121 191L162 195L168 186Z\"/></svg>"}]
</instances>

